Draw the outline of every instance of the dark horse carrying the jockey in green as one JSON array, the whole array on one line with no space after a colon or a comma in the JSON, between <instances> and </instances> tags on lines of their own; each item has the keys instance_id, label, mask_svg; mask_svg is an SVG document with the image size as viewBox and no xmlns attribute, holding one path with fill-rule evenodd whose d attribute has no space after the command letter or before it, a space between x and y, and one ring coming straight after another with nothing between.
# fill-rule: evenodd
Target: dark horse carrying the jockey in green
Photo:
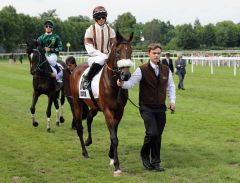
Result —
<instances>
[{"instance_id":1,"label":"dark horse carrying the jockey in green","mask_svg":"<svg viewBox=\"0 0 240 183\"><path fill-rule=\"evenodd\" d=\"M33 39L27 42L27 54L30 62L30 73L33 75L33 97L32 97L32 105L30 108L32 114L32 124L37 127L38 122L35 120L35 106L38 101L38 97L41 94L45 94L48 96L48 106L47 106L47 131L50 132L50 117L51 117L51 108L52 103L56 108L56 125L59 125L59 121L61 123L64 122L63 118L63 104L65 101L65 95L63 91L63 87L60 84L57 84L56 79L52 77L52 70L49 63L40 53L41 47L38 44L38 41ZM58 61L65 69L66 64L63 61ZM61 91L61 115L59 117L59 104L58 97Z\"/></svg>"}]
</instances>

